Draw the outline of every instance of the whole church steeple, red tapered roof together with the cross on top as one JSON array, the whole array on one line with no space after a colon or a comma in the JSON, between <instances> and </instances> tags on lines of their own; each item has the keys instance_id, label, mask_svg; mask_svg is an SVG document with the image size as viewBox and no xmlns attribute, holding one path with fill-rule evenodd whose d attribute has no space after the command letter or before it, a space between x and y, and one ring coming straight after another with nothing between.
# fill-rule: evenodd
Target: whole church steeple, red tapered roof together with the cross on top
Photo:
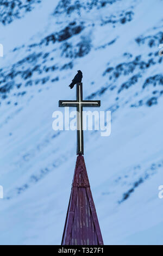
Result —
<instances>
[{"instance_id":1,"label":"whole church steeple, red tapered roof together with the cross on top","mask_svg":"<svg viewBox=\"0 0 163 256\"><path fill-rule=\"evenodd\" d=\"M83 157L83 107L100 107L100 105L99 100L83 100L82 83L77 83L76 100L59 101L59 107L77 108L78 155L61 245L103 245Z\"/></svg>"}]
</instances>

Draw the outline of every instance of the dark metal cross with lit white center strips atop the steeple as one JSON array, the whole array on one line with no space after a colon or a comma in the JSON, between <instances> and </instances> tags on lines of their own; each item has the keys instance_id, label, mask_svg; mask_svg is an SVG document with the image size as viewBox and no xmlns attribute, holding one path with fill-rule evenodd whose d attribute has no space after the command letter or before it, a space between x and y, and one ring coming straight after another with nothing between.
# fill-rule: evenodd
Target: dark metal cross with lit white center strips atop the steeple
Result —
<instances>
[{"instance_id":1,"label":"dark metal cross with lit white center strips atop the steeple","mask_svg":"<svg viewBox=\"0 0 163 256\"><path fill-rule=\"evenodd\" d=\"M82 83L77 83L77 100L59 100L59 107L77 108L77 155L84 154L83 146L83 107L100 107L100 100L83 100Z\"/></svg>"}]
</instances>

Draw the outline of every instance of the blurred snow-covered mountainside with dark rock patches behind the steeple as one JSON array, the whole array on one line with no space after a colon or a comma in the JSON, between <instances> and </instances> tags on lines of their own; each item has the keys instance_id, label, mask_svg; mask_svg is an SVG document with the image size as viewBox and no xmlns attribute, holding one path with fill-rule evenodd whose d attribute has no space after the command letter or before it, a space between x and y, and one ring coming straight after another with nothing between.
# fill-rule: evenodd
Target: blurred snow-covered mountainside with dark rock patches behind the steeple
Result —
<instances>
[{"instance_id":1,"label":"blurred snow-covered mountainside with dark rock patches behind the steeple","mask_svg":"<svg viewBox=\"0 0 163 256\"><path fill-rule=\"evenodd\" d=\"M163 1L1 0L1 245L60 244L76 131L54 131L58 100L111 111L111 135L84 131L105 245L162 244ZM64 112L64 109L62 109Z\"/></svg>"}]
</instances>

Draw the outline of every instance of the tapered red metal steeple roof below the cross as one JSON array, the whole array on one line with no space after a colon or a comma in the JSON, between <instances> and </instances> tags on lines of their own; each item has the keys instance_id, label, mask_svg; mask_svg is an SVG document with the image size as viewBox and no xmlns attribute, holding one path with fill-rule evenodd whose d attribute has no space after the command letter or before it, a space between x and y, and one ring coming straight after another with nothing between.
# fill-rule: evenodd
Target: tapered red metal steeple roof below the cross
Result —
<instances>
[{"instance_id":1,"label":"tapered red metal steeple roof below the cross","mask_svg":"<svg viewBox=\"0 0 163 256\"><path fill-rule=\"evenodd\" d=\"M83 156L77 157L61 245L103 245Z\"/></svg>"}]
</instances>

